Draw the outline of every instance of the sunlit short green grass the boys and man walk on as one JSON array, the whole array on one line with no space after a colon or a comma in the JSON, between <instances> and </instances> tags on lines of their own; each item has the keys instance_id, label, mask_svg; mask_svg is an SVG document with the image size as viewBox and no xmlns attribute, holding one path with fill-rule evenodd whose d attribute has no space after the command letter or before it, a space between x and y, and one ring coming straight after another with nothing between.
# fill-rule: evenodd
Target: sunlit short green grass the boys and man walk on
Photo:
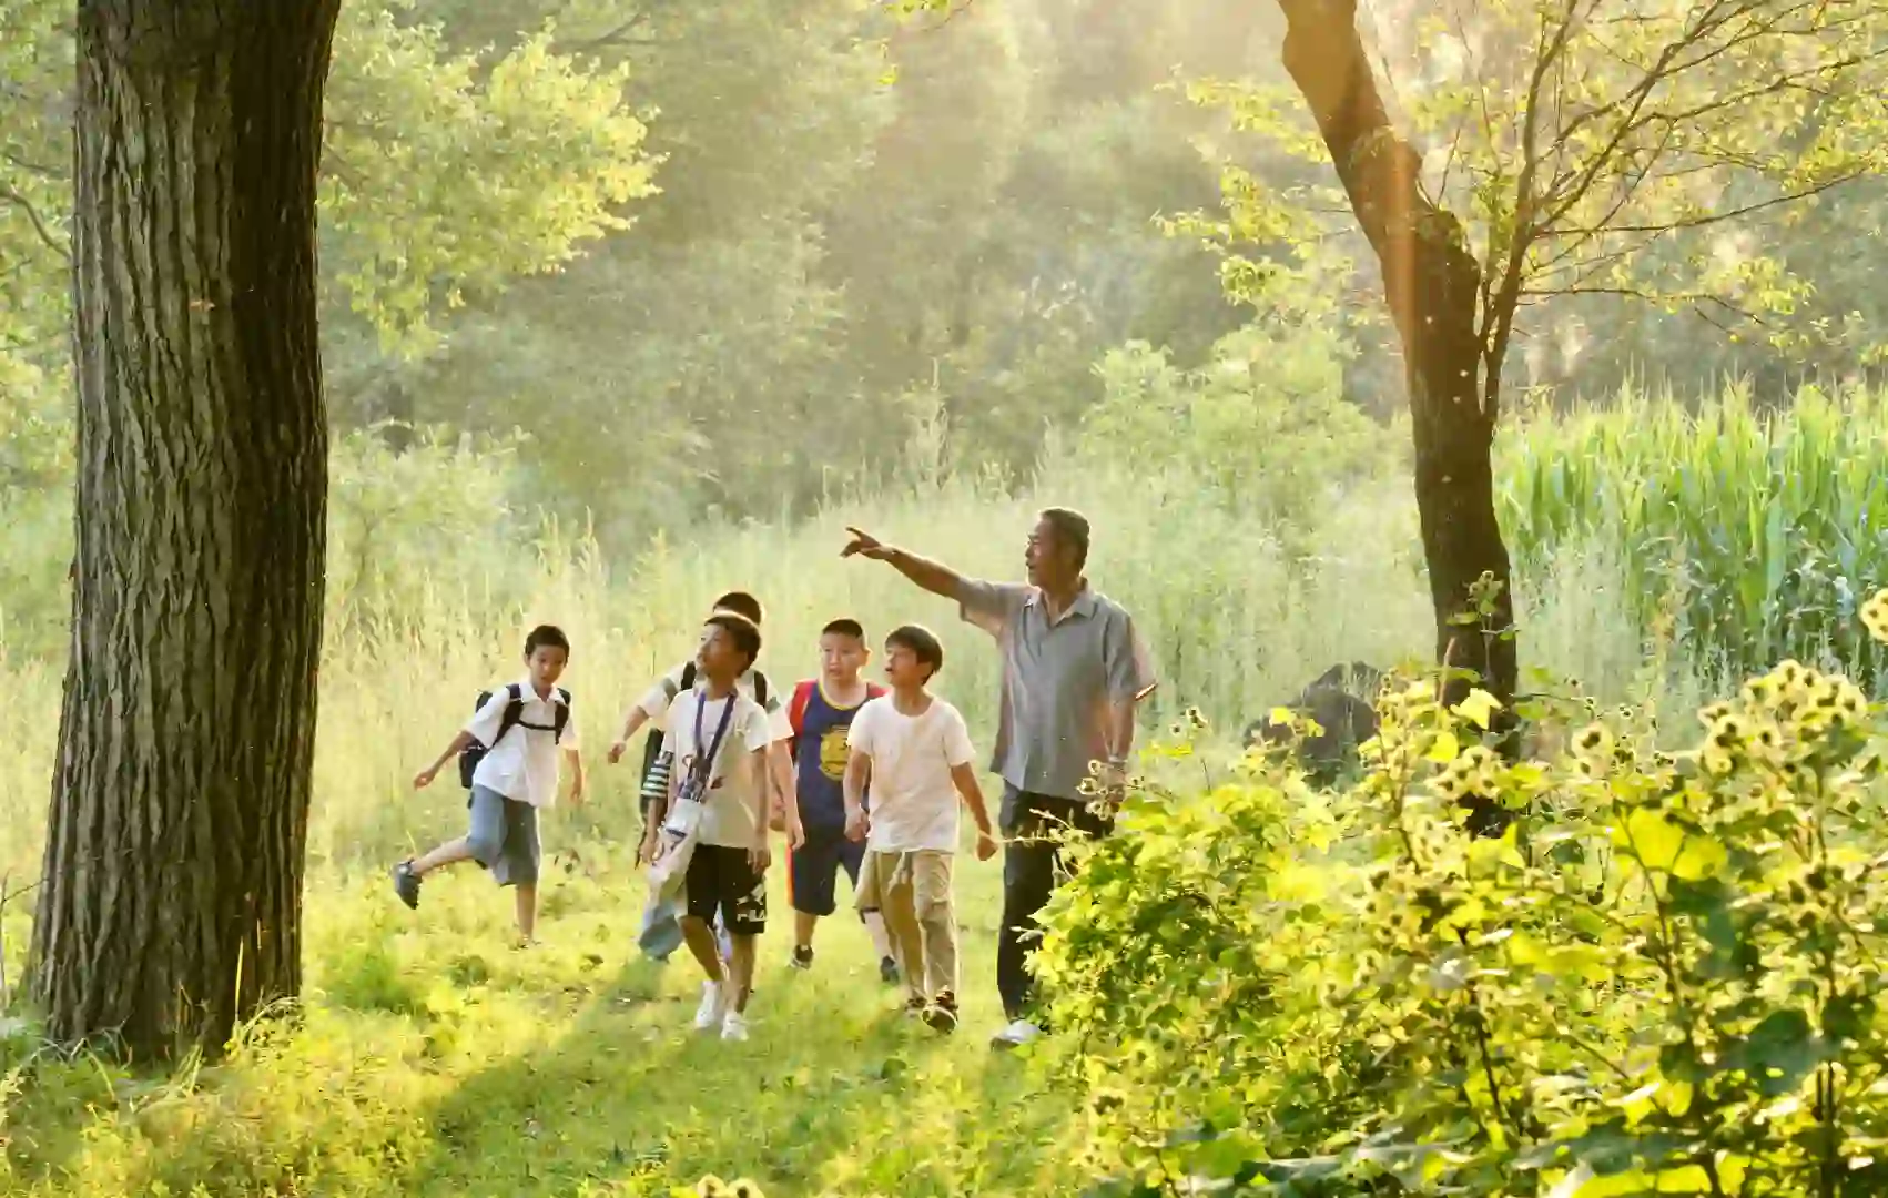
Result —
<instances>
[{"instance_id":1,"label":"sunlit short green grass the boys and man walk on","mask_svg":"<svg viewBox=\"0 0 1888 1198\"><path fill-rule=\"evenodd\" d=\"M0 1089L0 1189L595 1196L708 1172L770 1198L1080 1189L1067 1098L987 1049L995 864L961 870L967 1011L950 1040L897 1013L850 917L821 926L814 972L789 970L776 868L748 1043L689 1030L693 962L634 953L632 870L604 851L553 868L544 943L525 953L478 872L429 881L417 913L379 877L313 885L298 1026L168 1079L42 1058L11 1100Z\"/></svg>"}]
</instances>

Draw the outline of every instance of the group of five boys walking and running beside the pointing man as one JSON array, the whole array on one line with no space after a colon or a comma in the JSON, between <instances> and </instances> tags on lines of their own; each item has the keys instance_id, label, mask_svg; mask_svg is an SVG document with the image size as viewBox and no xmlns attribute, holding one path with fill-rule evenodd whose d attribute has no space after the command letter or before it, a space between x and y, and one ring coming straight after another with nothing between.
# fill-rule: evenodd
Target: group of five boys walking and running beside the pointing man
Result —
<instances>
[{"instance_id":1,"label":"group of five boys walking and running beside the pointing man","mask_svg":"<svg viewBox=\"0 0 1888 1198\"><path fill-rule=\"evenodd\" d=\"M972 768L963 715L929 692L944 649L906 624L885 638L885 681L865 679L870 660L857 621L836 619L819 636L819 675L793 687L784 706L755 668L761 604L723 594L702 624L691 662L663 675L627 715L608 760L651 728L644 755L638 860L651 879L680 877L682 941L704 973L695 1028L748 1038L755 943L767 926L770 832L789 847L795 909L791 964L814 964L814 928L836 911L836 877L872 936L885 981L902 977L906 1011L933 1028L957 1026L957 923L952 860L959 802L976 821L976 855L997 853ZM525 677L481 696L470 723L415 775L430 785L455 757L468 789L466 836L395 866L410 907L421 879L476 860L515 889L517 930L536 924L538 809L557 798L559 755L572 762L574 804L583 762L568 691L557 685L570 641L551 626L525 640ZM653 881L651 881L653 885Z\"/></svg>"}]
</instances>

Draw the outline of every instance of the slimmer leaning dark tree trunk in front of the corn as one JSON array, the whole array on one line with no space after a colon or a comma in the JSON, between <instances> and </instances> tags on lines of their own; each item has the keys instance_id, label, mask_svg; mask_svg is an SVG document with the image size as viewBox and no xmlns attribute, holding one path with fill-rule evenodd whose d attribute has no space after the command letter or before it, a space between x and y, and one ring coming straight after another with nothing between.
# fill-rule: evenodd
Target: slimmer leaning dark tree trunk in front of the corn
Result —
<instances>
[{"instance_id":1,"label":"slimmer leaning dark tree trunk in front of the corn","mask_svg":"<svg viewBox=\"0 0 1888 1198\"><path fill-rule=\"evenodd\" d=\"M1480 385L1480 266L1461 223L1420 191L1420 160L1384 109L1357 36L1356 2L1278 0L1278 8L1286 15L1284 66L1376 251L1403 341L1437 657L1473 670L1507 704L1516 687L1514 615L1490 462L1495 411L1482 402L1495 389ZM1471 598L1484 574L1501 585L1486 621Z\"/></svg>"}]
</instances>

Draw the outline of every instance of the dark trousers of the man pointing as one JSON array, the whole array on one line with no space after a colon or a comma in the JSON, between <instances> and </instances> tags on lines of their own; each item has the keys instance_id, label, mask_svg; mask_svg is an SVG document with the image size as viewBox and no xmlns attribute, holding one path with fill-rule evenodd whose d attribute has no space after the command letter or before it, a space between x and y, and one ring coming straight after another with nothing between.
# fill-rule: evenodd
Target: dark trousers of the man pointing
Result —
<instances>
[{"instance_id":1,"label":"dark trousers of the man pointing","mask_svg":"<svg viewBox=\"0 0 1888 1198\"><path fill-rule=\"evenodd\" d=\"M1003 932L997 938L997 992L1008 1019L1025 1019L1035 1000L1027 955L1037 947L1037 913L1061 881L1063 853L1054 836L1074 828L1099 838L1114 828L1112 815L1087 809L1089 800L1054 798L1003 787Z\"/></svg>"}]
</instances>

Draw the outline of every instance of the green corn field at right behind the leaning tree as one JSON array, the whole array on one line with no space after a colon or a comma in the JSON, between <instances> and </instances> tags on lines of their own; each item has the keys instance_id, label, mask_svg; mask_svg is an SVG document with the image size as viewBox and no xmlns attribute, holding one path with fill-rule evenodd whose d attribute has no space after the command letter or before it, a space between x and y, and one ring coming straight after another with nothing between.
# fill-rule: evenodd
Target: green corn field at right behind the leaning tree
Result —
<instances>
[{"instance_id":1,"label":"green corn field at right behind the leaning tree","mask_svg":"<svg viewBox=\"0 0 1888 1198\"><path fill-rule=\"evenodd\" d=\"M1639 628L1694 664L1758 674L1784 657L1877 691L1858 606L1888 585L1888 392L1758 411L1746 391L1688 411L1624 394L1510 423L1503 524L1524 577L1567 545L1612 545Z\"/></svg>"}]
</instances>

